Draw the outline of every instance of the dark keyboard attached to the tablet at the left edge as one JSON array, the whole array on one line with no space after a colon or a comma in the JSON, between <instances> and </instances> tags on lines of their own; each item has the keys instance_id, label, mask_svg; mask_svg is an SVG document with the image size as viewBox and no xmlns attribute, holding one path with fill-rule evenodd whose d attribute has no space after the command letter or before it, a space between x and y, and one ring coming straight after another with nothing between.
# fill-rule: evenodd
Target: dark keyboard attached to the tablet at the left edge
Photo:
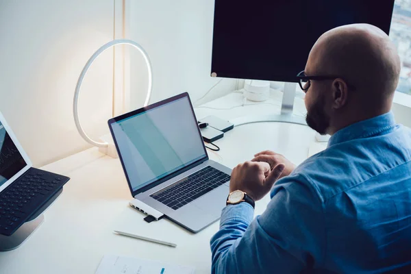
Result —
<instances>
[{"instance_id":1,"label":"dark keyboard attached to the tablet at the left edge","mask_svg":"<svg viewBox=\"0 0 411 274\"><path fill-rule=\"evenodd\" d=\"M67 181L69 177L29 169L25 175L0 192L0 234L13 234Z\"/></svg>"}]
</instances>

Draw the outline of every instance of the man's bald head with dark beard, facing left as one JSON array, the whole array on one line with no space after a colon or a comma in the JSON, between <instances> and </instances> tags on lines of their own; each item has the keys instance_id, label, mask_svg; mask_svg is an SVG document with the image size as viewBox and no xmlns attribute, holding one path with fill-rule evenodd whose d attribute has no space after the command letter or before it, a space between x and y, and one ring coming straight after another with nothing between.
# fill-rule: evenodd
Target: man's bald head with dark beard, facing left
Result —
<instances>
[{"instance_id":1,"label":"man's bald head with dark beard, facing left","mask_svg":"<svg viewBox=\"0 0 411 274\"><path fill-rule=\"evenodd\" d=\"M321 134L388 112L401 69L393 42L379 28L345 25L325 32L310 51L306 75L335 76L311 80L306 91L306 121Z\"/></svg>"}]
</instances>

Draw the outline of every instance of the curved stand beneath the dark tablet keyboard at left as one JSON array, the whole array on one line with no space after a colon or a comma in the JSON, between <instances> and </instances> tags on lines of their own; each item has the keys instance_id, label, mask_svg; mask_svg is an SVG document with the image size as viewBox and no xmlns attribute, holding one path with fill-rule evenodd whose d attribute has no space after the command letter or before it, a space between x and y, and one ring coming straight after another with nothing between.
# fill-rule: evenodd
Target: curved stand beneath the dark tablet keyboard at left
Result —
<instances>
[{"instance_id":1,"label":"curved stand beneath the dark tablet keyboard at left","mask_svg":"<svg viewBox=\"0 0 411 274\"><path fill-rule=\"evenodd\" d=\"M60 188L57 193L47 203L45 206L42 206L37 212L33 214L32 217L21 227L18 227L16 232L14 232L10 236L5 236L0 234L0 251L10 251L16 249L17 247L21 246L29 236L33 234L33 232L42 224L45 217L43 216L43 212L51 206L51 204L57 199L60 194L62 193L63 188Z\"/></svg>"}]
</instances>

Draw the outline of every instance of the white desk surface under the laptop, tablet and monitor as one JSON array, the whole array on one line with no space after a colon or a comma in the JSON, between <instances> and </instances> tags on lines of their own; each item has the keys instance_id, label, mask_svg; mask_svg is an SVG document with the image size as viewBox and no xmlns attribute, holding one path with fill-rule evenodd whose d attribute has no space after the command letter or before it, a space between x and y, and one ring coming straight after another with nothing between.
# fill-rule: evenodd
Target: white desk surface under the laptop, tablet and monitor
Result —
<instances>
[{"instance_id":1,"label":"white desk surface under the laptop, tablet and monitor","mask_svg":"<svg viewBox=\"0 0 411 274\"><path fill-rule=\"evenodd\" d=\"M236 103L240 95L232 94L207 105ZM227 103L224 105L227 108ZM216 114L231 119L247 110L279 110L268 103L232 110L199 108L197 118ZM235 127L216 141L221 151L208 151L210 158L231 168L251 160L264 149L282 153L295 164L308 157L315 132L309 127L286 123L255 123ZM162 219L155 225L164 227L164 234L176 248L158 245L113 234L116 218L127 216L134 223L144 224L144 215L128 206L132 199L119 159L109 158L88 149L54 162L43 169L71 177L60 198L45 212L45 222L18 249L0 253L0 273L95 273L105 253L159 260L196 267L196 273L210 273L210 238L219 229L216 222L198 234L192 234ZM256 204L260 214L268 203L268 195ZM136 221L138 220L138 221ZM147 227L147 226L145 226Z\"/></svg>"}]
</instances>

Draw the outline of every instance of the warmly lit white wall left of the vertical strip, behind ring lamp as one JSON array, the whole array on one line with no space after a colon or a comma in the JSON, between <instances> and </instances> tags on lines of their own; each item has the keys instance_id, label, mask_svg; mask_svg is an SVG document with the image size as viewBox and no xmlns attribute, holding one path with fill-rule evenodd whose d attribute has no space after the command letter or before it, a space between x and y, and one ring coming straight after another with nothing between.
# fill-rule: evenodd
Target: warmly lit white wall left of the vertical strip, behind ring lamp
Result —
<instances>
[{"instance_id":1,"label":"warmly lit white wall left of the vertical strip, behind ring lamp","mask_svg":"<svg viewBox=\"0 0 411 274\"><path fill-rule=\"evenodd\" d=\"M73 92L90 55L112 40L113 14L113 0L0 1L0 111L35 166L88 147ZM79 114L92 138L108 132L112 70L105 51L84 79Z\"/></svg>"}]
</instances>

